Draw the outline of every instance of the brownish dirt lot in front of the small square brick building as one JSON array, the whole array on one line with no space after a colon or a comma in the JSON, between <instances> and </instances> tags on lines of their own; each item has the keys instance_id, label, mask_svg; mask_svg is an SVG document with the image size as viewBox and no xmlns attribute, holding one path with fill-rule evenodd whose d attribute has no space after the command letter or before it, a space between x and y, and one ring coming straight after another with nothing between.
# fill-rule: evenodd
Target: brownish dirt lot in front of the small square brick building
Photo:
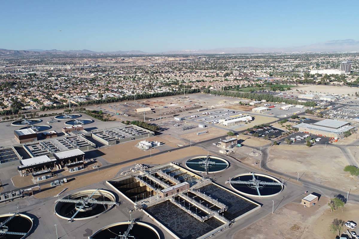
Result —
<instances>
[{"instance_id":1,"label":"brownish dirt lot in front of the small square brick building","mask_svg":"<svg viewBox=\"0 0 359 239\"><path fill-rule=\"evenodd\" d=\"M297 202L291 202L234 234L234 239L307 239L318 238L303 236L313 221L327 210L328 199L321 197L314 207L304 208ZM260 230L258 230L260 229ZM333 236L327 238L334 238Z\"/></svg>"}]
</instances>

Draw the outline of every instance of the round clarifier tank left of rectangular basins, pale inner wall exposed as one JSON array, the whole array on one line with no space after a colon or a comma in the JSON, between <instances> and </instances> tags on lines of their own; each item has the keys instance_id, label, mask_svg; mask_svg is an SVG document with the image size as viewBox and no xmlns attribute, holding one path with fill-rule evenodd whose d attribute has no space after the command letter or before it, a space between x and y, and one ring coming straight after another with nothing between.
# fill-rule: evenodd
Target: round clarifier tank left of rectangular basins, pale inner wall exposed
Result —
<instances>
[{"instance_id":1,"label":"round clarifier tank left of rectangular basins, pale inner wall exposed","mask_svg":"<svg viewBox=\"0 0 359 239\"><path fill-rule=\"evenodd\" d=\"M107 190L84 190L57 200L55 213L66 220L85 220L111 209L111 202L116 203L116 197Z\"/></svg>"}]
</instances>

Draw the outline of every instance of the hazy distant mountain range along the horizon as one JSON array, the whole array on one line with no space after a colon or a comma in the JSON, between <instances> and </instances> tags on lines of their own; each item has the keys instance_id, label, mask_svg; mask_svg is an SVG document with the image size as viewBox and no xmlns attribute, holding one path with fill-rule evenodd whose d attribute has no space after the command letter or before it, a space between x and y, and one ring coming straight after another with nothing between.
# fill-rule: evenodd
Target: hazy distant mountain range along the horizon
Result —
<instances>
[{"instance_id":1,"label":"hazy distant mountain range along the horizon","mask_svg":"<svg viewBox=\"0 0 359 239\"><path fill-rule=\"evenodd\" d=\"M298 53L298 52L359 52L359 41L353 39L331 40L323 43L311 44L300 47L237 47L237 48L216 48L208 50L179 50L161 53L147 53L143 51L114 51L94 52L90 50L69 50L60 51L56 49L42 50L7 50L0 49L0 56L4 55L41 55L41 54L114 54L114 55L144 55L144 54L238 54L238 53Z\"/></svg>"}]
</instances>

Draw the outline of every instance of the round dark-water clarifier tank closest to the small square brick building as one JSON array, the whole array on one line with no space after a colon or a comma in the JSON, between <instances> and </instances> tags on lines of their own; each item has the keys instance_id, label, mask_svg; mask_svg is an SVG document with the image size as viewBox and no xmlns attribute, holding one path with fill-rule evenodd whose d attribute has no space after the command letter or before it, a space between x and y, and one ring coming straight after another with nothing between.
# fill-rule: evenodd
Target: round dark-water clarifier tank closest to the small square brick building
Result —
<instances>
[{"instance_id":1,"label":"round dark-water clarifier tank closest to the small square brick building","mask_svg":"<svg viewBox=\"0 0 359 239\"><path fill-rule=\"evenodd\" d=\"M251 197L272 197L284 188L275 177L261 173L243 173L230 180L230 186L237 192Z\"/></svg>"}]
</instances>

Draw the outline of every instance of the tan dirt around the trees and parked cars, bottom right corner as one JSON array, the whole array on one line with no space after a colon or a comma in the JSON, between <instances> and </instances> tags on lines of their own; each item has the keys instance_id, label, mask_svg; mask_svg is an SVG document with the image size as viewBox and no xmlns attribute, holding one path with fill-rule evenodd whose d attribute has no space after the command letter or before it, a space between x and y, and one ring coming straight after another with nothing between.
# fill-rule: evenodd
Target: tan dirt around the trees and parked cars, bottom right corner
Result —
<instances>
[{"instance_id":1,"label":"tan dirt around the trees and parked cars, bottom right corner","mask_svg":"<svg viewBox=\"0 0 359 239\"><path fill-rule=\"evenodd\" d=\"M349 197L350 200L350 197ZM326 238L335 238L335 234L330 231L330 224L333 219L341 219L343 221L355 221L359 222L359 205L358 204L349 204L344 206L343 212L341 210L337 210L331 212L329 207L324 211L319 218L312 222L312 225L309 227L309 230L303 234L302 238L317 238L317 239L326 239ZM346 231L346 226L343 227L342 233ZM349 229L349 231L352 231ZM354 229L355 231L355 229ZM357 230L358 231L358 230Z\"/></svg>"}]
</instances>

